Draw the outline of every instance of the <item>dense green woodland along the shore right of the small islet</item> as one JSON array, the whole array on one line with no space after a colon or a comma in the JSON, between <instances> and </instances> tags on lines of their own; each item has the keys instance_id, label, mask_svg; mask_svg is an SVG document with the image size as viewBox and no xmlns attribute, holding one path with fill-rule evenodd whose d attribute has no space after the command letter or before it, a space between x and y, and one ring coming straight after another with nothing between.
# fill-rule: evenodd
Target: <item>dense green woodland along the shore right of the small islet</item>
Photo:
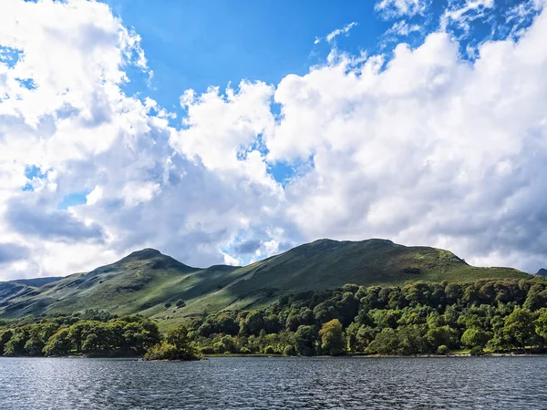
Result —
<instances>
[{"instance_id":1,"label":"dense green woodland along the shore right of the small islet","mask_svg":"<svg viewBox=\"0 0 547 410\"><path fill-rule=\"evenodd\" d=\"M547 281L346 284L209 315L189 328L204 354L540 352L547 346Z\"/></svg>"}]
</instances>

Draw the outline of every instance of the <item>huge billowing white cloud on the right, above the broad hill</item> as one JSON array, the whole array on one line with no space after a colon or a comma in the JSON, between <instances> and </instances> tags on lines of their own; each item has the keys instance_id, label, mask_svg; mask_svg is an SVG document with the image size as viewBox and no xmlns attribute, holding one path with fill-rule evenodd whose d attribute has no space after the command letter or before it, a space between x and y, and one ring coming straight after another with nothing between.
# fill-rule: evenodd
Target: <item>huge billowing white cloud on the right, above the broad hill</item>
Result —
<instances>
[{"instance_id":1,"label":"huge billowing white cloud on the right, above the broad hill","mask_svg":"<svg viewBox=\"0 0 547 410\"><path fill-rule=\"evenodd\" d=\"M313 157L286 188L307 238L387 237L533 270L547 245L547 13L463 61L448 34L285 77L273 160ZM309 223L313 220L314 223Z\"/></svg>"}]
</instances>

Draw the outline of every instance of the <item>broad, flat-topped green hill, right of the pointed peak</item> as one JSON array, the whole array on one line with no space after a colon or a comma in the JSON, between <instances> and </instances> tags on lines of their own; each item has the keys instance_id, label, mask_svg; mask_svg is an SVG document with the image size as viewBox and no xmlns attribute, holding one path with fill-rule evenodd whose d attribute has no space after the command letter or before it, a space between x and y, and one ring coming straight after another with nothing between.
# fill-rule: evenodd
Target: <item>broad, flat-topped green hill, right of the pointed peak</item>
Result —
<instances>
[{"instance_id":1,"label":"broad, flat-topped green hill, right of the pointed peak","mask_svg":"<svg viewBox=\"0 0 547 410\"><path fill-rule=\"evenodd\" d=\"M408 282L470 282L484 278L526 278L511 268L477 268L450 251L406 247L386 240L319 240L241 268L246 279L232 287L196 300L187 311L231 309L265 304L284 293L321 290L345 283L359 285ZM222 298L222 302L217 299Z\"/></svg>"}]
</instances>

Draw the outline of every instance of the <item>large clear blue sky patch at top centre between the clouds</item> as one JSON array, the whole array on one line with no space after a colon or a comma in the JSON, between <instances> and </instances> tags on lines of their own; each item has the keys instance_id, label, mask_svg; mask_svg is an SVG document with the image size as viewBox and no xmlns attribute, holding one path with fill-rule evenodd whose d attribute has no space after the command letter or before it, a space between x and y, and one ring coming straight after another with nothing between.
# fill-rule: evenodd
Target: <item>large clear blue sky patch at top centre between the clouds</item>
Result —
<instances>
[{"instance_id":1,"label":"large clear blue sky patch at top centre between the clouds","mask_svg":"<svg viewBox=\"0 0 547 410\"><path fill-rule=\"evenodd\" d=\"M390 24L373 2L108 1L135 28L154 72L147 94L164 107L177 107L181 89L203 92L242 79L277 83L305 74L325 59L329 46L315 38L358 20L355 36L340 38L345 49L374 49ZM128 87L139 92L146 76ZM129 91L129 92L130 92Z\"/></svg>"}]
</instances>

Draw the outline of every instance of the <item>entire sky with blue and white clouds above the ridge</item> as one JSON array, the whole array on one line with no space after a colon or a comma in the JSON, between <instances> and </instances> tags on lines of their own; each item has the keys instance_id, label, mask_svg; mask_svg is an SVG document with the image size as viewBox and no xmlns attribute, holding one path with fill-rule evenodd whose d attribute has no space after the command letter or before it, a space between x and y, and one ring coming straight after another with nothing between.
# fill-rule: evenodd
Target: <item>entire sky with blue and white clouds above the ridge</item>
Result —
<instances>
[{"instance_id":1,"label":"entire sky with blue and white clouds above the ridge","mask_svg":"<svg viewBox=\"0 0 547 410\"><path fill-rule=\"evenodd\" d=\"M545 0L0 0L0 280L387 238L547 266Z\"/></svg>"}]
</instances>

